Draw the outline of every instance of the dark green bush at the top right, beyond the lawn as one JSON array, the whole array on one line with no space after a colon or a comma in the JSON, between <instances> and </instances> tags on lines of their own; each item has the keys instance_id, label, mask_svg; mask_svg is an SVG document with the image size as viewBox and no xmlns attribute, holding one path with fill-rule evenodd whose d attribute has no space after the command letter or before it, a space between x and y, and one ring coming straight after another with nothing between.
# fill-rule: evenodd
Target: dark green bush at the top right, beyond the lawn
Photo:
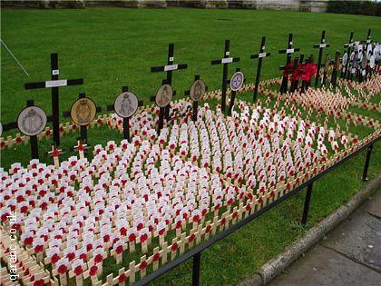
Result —
<instances>
[{"instance_id":1,"label":"dark green bush at the top right, beyond the lawn","mask_svg":"<svg viewBox=\"0 0 381 286\"><path fill-rule=\"evenodd\" d=\"M329 1L327 12L355 15L381 16L381 2Z\"/></svg>"}]
</instances>

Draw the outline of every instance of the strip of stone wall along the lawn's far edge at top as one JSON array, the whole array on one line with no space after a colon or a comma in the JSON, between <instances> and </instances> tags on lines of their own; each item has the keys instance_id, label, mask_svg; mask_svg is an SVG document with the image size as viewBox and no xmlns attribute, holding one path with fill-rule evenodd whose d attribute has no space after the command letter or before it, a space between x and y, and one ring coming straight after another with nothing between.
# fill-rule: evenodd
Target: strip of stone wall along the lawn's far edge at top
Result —
<instances>
[{"instance_id":1,"label":"strip of stone wall along the lawn's far edge at top","mask_svg":"<svg viewBox=\"0 0 381 286\"><path fill-rule=\"evenodd\" d=\"M113 5L122 7L173 7L192 8L238 8L271 9L324 12L329 0L43 0L43 1L2 1L2 6L34 8L83 8L85 6ZM356 0L355 0L356 1Z\"/></svg>"}]
</instances>

